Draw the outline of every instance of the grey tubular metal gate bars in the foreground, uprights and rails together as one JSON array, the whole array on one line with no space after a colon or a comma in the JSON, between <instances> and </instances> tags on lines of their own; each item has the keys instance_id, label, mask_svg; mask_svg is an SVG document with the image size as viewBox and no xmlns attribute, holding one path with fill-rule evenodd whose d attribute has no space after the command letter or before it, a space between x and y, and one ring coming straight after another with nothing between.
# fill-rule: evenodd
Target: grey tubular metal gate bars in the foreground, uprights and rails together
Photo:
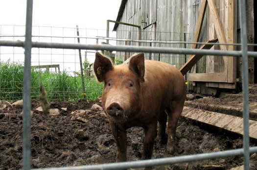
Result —
<instances>
[{"instance_id":1,"label":"grey tubular metal gate bars in the foreground, uprights and rails together","mask_svg":"<svg viewBox=\"0 0 257 170\"><path fill-rule=\"evenodd\" d=\"M53 48L53 49L86 49L86 50L108 50L108 51L131 51L131 52L158 52L173 54L209 54L226 55L243 58L243 148L219 151L213 153L203 153L196 155L160 158L154 160L133 161L124 163L90 165L81 167L62 167L48 168L48 170L114 170L127 168L140 168L191 161L200 161L220 157L235 155L244 156L244 170L249 170L250 153L257 152L257 147L250 147L249 142L249 88L248 88L248 56L257 57L257 52L249 52L247 49L246 32L246 7L245 0L239 1L240 25L241 25L241 51L222 51L222 50L198 50L180 48L154 48L154 47L135 47L135 46L109 46L109 45L84 45L67 43L43 43L32 42L32 0L27 0L25 41L0 40L0 46L23 47L25 49L24 59L24 79L23 79L23 169L30 169L31 146L30 146L30 109L31 109L31 50L32 48Z\"/></svg>"}]
</instances>

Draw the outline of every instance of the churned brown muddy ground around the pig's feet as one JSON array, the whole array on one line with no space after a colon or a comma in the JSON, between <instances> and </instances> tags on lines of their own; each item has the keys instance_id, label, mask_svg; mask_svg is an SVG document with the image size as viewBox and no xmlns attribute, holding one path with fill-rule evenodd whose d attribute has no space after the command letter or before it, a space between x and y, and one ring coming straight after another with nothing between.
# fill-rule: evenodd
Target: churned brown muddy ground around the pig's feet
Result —
<instances>
[{"instance_id":1,"label":"churned brown muddy ground around the pig's feet","mask_svg":"<svg viewBox=\"0 0 257 170\"><path fill-rule=\"evenodd\" d=\"M257 88L256 88L257 90ZM257 91L250 91L250 102L257 103ZM238 96L238 94L236 94ZM191 103L209 103L234 106L242 103L241 97L228 99L204 97L194 94ZM231 97L231 96L230 96ZM78 102L54 100L50 108L59 109L59 114L46 116L36 110L40 105L32 101L31 115L31 168L67 167L92 164L113 163L116 159L116 144L111 134L109 122L100 110L90 110L95 101ZM193 105L193 104L191 104ZM231 104L233 106L233 104ZM199 105L198 105L199 106ZM233 106L233 107L234 107ZM239 107L239 106L238 106ZM65 109L67 108L67 110ZM204 108L203 108L204 109ZM22 105L7 105L0 109L0 170L22 169ZM155 143L153 159L168 156L187 155L242 148L242 137L220 133L213 128L195 125L194 122L181 118L176 134L176 153L165 154L165 145ZM143 130L133 127L128 130L128 161L140 160ZM252 141L251 146L257 143ZM242 156L219 158L214 160L155 167L158 170L229 170L243 165ZM251 170L257 170L257 154L251 155Z\"/></svg>"}]
</instances>

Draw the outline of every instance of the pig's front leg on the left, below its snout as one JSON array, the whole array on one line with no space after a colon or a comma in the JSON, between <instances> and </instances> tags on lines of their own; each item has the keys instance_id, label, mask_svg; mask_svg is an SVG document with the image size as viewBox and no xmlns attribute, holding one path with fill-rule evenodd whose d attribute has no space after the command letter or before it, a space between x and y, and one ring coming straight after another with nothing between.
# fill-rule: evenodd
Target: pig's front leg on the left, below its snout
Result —
<instances>
[{"instance_id":1,"label":"pig's front leg on the left, below its snout","mask_svg":"<svg viewBox=\"0 0 257 170\"><path fill-rule=\"evenodd\" d=\"M113 122L110 123L113 136L117 145L117 162L127 161L127 135L126 130L120 125Z\"/></svg>"}]
</instances>

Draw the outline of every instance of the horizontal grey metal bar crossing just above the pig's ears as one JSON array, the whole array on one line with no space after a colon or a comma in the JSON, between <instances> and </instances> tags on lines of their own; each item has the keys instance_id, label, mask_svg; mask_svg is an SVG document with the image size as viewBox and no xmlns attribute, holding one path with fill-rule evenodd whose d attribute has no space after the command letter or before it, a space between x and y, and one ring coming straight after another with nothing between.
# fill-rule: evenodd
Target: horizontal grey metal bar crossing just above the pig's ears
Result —
<instances>
[{"instance_id":1,"label":"horizontal grey metal bar crossing just above the pig's ears","mask_svg":"<svg viewBox=\"0 0 257 170\"><path fill-rule=\"evenodd\" d=\"M0 40L0 46L24 47L24 42L23 41ZM155 53L172 53L172 54L220 55L220 56L237 56L237 57L242 56L241 51L184 49L184 48L160 48L160 47L142 47L142 46L110 46L110 45L32 42L32 47L33 48L49 48L49 49L89 49L89 50L155 52ZM248 56L257 57L257 52L248 51Z\"/></svg>"}]
</instances>

